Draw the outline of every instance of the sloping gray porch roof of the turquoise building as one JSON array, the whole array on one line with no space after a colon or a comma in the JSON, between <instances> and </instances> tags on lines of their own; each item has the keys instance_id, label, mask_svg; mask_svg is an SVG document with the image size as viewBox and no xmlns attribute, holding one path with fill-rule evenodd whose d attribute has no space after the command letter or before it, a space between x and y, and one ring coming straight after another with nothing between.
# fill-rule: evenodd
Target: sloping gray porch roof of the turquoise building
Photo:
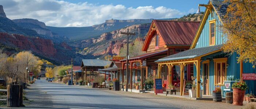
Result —
<instances>
[{"instance_id":1,"label":"sloping gray porch roof of the turquoise building","mask_svg":"<svg viewBox=\"0 0 256 109\"><path fill-rule=\"evenodd\" d=\"M209 47L189 49L189 50L184 51L184 52L180 52L180 53L177 53L177 54L174 54L174 55L170 55L170 56L160 58L159 60L157 60L155 62L180 60L180 59L185 59L185 58L194 58L194 57L201 56L201 55L204 55L206 53L221 49L221 47L222 47L222 45L214 45L214 46L209 46Z\"/></svg>"}]
</instances>

